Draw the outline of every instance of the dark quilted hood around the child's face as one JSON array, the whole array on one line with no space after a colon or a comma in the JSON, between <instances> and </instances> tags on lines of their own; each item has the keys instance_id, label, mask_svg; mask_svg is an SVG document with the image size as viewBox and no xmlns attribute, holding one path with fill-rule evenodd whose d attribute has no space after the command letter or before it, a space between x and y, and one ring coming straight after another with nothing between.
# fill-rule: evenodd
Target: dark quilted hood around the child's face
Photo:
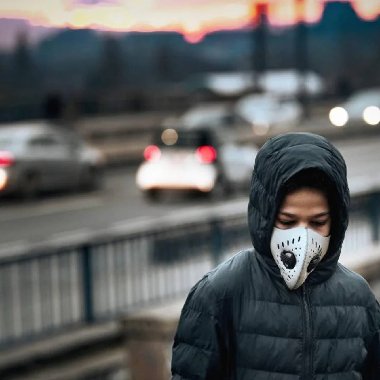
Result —
<instances>
[{"instance_id":1,"label":"dark quilted hood around the child's face","mask_svg":"<svg viewBox=\"0 0 380 380\"><path fill-rule=\"evenodd\" d=\"M270 240L282 189L295 174L305 169L323 171L336 187L337 223L326 259L310 274L310 282L321 282L335 270L348 225L350 193L345 161L331 142L312 133L286 133L271 138L258 152L253 169L248 225L253 247L277 271ZM278 270L279 272L279 270ZM279 273L278 273L279 275Z\"/></svg>"}]
</instances>

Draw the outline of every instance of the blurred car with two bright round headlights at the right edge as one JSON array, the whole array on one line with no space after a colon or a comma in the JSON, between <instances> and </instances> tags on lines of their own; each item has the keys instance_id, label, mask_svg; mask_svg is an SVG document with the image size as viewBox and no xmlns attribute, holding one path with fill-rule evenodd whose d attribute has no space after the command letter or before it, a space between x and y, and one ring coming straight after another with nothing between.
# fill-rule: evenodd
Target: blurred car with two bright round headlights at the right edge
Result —
<instances>
[{"instance_id":1,"label":"blurred car with two bright round headlights at the right edge","mask_svg":"<svg viewBox=\"0 0 380 380\"><path fill-rule=\"evenodd\" d=\"M329 119L337 127L343 127L347 123L379 124L380 87L354 93L343 104L331 109Z\"/></svg>"}]
</instances>

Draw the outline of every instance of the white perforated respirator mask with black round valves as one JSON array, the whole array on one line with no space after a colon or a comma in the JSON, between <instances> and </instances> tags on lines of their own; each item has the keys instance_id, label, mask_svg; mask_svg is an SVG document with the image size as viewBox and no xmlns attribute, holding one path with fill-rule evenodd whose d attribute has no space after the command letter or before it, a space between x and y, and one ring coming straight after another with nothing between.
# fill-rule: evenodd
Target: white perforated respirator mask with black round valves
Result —
<instances>
[{"instance_id":1,"label":"white perforated respirator mask with black round valves","mask_svg":"<svg viewBox=\"0 0 380 380\"><path fill-rule=\"evenodd\" d=\"M290 290L299 288L317 267L329 247L324 237L310 228L273 228L271 253Z\"/></svg>"}]
</instances>

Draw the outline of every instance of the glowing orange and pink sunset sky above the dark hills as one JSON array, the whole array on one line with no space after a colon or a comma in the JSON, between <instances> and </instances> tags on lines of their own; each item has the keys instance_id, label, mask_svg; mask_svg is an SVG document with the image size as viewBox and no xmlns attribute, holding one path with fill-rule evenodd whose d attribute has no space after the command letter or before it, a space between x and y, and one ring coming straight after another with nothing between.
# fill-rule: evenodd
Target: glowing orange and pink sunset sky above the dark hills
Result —
<instances>
[{"instance_id":1,"label":"glowing orange and pink sunset sky above the dark hills","mask_svg":"<svg viewBox=\"0 0 380 380\"><path fill-rule=\"evenodd\" d=\"M304 2L306 21L317 22L324 0ZM363 19L372 20L380 14L380 0L351 2ZM0 18L25 19L32 25L47 27L171 30L196 42L208 32L247 25L255 13L254 3L252 0L1 0ZM296 21L294 0L268 3L272 24L288 25Z\"/></svg>"}]
</instances>

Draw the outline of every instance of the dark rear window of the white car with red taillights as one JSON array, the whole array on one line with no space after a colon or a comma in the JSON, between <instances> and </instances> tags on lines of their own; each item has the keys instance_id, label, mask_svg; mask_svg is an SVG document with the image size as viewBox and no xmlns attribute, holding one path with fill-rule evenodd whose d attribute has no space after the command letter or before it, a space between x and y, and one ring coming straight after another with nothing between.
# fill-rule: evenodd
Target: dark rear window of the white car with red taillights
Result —
<instances>
[{"instance_id":1,"label":"dark rear window of the white car with red taillights","mask_svg":"<svg viewBox=\"0 0 380 380\"><path fill-rule=\"evenodd\" d=\"M160 147L197 148L213 146L214 141L211 133L206 130L178 131L168 128L155 134L154 144Z\"/></svg>"}]
</instances>

